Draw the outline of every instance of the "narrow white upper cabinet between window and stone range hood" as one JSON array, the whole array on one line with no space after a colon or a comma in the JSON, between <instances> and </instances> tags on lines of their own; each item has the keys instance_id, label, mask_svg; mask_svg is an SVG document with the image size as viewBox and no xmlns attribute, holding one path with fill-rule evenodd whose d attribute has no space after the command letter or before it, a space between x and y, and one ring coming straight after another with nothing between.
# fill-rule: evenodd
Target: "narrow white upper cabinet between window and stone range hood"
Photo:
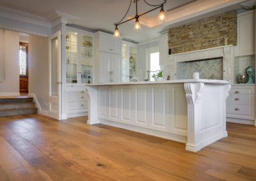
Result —
<instances>
[{"instance_id":1,"label":"narrow white upper cabinet between window and stone range hood","mask_svg":"<svg viewBox=\"0 0 256 181\"><path fill-rule=\"evenodd\" d=\"M163 34L159 39L159 64L161 66L169 65L168 54L168 34Z\"/></svg>"}]
</instances>

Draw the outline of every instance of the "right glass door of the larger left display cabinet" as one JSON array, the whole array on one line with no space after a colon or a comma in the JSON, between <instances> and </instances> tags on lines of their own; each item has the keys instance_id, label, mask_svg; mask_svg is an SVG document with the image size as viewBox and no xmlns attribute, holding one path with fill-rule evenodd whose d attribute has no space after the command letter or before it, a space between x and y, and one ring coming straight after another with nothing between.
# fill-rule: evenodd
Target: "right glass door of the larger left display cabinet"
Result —
<instances>
[{"instance_id":1,"label":"right glass door of the larger left display cabinet","mask_svg":"<svg viewBox=\"0 0 256 181\"><path fill-rule=\"evenodd\" d=\"M93 80L93 37L81 34L81 83Z\"/></svg>"}]
</instances>

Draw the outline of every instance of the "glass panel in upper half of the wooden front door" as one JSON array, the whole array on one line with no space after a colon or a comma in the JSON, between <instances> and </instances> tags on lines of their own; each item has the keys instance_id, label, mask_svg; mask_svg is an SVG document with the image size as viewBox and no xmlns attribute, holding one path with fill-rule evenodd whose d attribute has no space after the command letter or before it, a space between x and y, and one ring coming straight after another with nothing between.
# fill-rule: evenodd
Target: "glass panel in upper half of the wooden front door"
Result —
<instances>
[{"instance_id":1,"label":"glass panel in upper half of the wooden front door","mask_svg":"<svg viewBox=\"0 0 256 181\"><path fill-rule=\"evenodd\" d=\"M28 76L28 43L20 42L20 76Z\"/></svg>"}]
</instances>

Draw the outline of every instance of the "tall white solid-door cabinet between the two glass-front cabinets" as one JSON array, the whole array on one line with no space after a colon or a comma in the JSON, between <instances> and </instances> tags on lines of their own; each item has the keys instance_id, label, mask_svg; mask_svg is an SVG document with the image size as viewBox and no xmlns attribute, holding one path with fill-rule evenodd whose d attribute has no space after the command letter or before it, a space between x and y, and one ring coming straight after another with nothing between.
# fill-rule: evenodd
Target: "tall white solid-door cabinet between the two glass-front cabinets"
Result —
<instances>
[{"instance_id":1,"label":"tall white solid-door cabinet between the two glass-front cabinets","mask_svg":"<svg viewBox=\"0 0 256 181\"><path fill-rule=\"evenodd\" d=\"M95 79L98 83L121 82L122 40L111 34L95 33Z\"/></svg>"}]
</instances>

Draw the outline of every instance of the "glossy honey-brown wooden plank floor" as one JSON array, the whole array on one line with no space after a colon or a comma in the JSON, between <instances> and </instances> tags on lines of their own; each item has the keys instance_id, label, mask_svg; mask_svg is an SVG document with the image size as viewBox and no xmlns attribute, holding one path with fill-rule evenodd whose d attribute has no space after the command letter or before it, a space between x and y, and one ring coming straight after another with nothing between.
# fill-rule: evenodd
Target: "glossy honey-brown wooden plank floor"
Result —
<instances>
[{"instance_id":1,"label":"glossy honey-brown wooden plank floor","mask_svg":"<svg viewBox=\"0 0 256 181\"><path fill-rule=\"evenodd\" d=\"M0 180L256 180L254 126L228 123L227 138L192 153L86 120L1 117Z\"/></svg>"}]
</instances>

